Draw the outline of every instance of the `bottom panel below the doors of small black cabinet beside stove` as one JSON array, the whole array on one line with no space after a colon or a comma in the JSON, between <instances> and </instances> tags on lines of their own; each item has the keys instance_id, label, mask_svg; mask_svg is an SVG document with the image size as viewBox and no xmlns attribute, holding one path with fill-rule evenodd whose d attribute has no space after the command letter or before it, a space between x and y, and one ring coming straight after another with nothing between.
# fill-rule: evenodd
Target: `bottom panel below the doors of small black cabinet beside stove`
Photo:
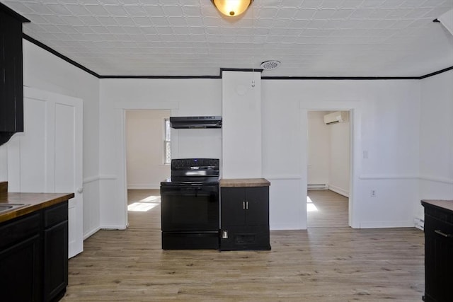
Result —
<instances>
[{"instance_id":1,"label":"bottom panel below the doors of small black cabinet beside stove","mask_svg":"<svg viewBox=\"0 0 453 302\"><path fill-rule=\"evenodd\" d=\"M220 250L270 250L269 227L229 226L222 228Z\"/></svg>"}]
</instances>

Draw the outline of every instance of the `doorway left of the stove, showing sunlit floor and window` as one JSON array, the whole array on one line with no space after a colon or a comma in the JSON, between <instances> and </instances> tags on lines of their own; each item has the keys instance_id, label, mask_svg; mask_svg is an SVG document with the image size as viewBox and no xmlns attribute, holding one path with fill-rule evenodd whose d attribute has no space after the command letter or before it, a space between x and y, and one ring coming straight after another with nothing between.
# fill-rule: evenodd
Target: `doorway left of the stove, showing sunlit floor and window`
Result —
<instances>
[{"instance_id":1,"label":"doorway left of the stove, showing sunlit floor and window","mask_svg":"<svg viewBox=\"0 0 453 302\"><path fill-rule=\"evenodd\" d=\"M170 115L171 110L125 111L129 228L161 228L159 189L160 182L170 176L170 137L167 133Z\"/></svg>"}]
</instances>

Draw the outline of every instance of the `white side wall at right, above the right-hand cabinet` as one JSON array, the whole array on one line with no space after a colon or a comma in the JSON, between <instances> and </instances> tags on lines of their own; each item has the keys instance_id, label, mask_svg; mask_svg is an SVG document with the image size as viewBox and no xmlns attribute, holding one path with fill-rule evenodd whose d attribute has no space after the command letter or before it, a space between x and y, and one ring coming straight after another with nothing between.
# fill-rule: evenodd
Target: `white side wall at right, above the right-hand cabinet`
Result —
<instances>
[{"instance_id":1,"label":"white side wall at right, above the right-hand cabinet","mask_svg":"<svg viewBox=\"0 0 453 302\"><path fill-rule=\"evenodd\" d=\"M421 81L420 198L453 199L453 71ZM420 200L417 216L423 218Z\"/></svg>"}]
</instances>

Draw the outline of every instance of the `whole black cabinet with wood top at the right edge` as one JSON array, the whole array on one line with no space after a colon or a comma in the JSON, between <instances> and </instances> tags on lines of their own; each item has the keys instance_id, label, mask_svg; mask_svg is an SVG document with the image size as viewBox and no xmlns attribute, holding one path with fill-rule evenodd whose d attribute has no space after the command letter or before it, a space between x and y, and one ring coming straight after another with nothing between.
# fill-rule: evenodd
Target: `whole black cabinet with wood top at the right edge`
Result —
<instances>
[{"instance_id":1,"label":"whole black cabinet with wood top at the right edge","mask_svg":"<svg viewBox=\"0 0 453 302\"><path fill-rule=\"evenodd\" d=\"M425 301L453 301L453 201L425 207ZM446 207L444 207L444 205Z\"/></svg>"}]
</instances>

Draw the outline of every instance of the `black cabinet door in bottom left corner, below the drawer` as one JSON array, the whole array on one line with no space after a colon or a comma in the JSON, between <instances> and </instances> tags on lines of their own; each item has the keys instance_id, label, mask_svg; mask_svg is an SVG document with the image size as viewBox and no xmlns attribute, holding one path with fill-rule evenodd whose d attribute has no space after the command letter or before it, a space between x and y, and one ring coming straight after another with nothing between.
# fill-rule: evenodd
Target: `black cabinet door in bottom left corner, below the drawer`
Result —
<instances>
[{"instance_id":1,"label":"black cabinet door in bottom left corner, below the drawer","mask_svg":"<svg viewBox=\"0 0 453 302\"><path fill-rule=\"evenodd\" d=\"M0 251L1 301L41 301L40 255L38 233Z\"/></svg>"}]
</instances>

